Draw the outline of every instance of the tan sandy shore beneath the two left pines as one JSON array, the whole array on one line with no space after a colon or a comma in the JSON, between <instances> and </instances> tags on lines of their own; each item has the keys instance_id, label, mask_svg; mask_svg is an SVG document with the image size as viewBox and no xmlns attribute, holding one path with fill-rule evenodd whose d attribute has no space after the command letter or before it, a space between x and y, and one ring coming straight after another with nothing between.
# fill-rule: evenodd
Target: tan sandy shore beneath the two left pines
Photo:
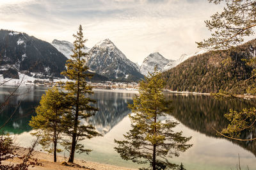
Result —
<instances>
[{"instance_id":1,"label":"tan sandy shore beneath the two left pines","mask_svg":"<svg viewBox=\"0 0 256 170\"><path fill-rule=\"evenodd\" d=\"M19 155L24 155L28 152L28 149L26 148L20 148L17 150L17 153ZM72 167L72 166L63 166L61 165L61 162L67 161L68 158L64 158L60 155L57 157L57 162L53 162L53 156L52 154L49 153L44 153L42 151L33 151L33 158L37 158L39 163L42 163L42 166L35 166L31 167L29 166L28 169L90 169L90 170L108 170L108 169L113 169L113 170L129 170L131 168L127 167L118 167L118 166L113 166L109 164L100 164L97 162L90 162L87 160L80 160L80 159L75 159L74 164L78 164L81 166L79 167ZM13 158L12 160L8 161L3 161L3 164L19 164L21 160L19 158ZM83 167L84 166L84 167Z\"/></svg>"}]
</instances>

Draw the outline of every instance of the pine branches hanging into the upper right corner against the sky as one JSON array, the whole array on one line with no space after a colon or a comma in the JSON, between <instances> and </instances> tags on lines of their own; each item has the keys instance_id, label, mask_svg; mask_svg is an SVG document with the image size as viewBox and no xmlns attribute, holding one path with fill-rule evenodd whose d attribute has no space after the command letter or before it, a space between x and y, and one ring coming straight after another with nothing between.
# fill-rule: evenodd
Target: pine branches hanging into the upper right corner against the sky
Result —
<instances>
[{"instance_id":1,"label":"pine branches hanging into the upper right corner against the sky","mask_svg":"<svg viewBox=\"0 0 256 170\"><path fill-rule=\"evenodd\" d=\"M206 20L206 27L212 32L211 38L198 42L198 47L205 49L229 49L244 41L244 36L255 33L255 0L209 0L210 3L226 2L223 12L214 13L211 20Z\"/></svg>"}]
</instances>

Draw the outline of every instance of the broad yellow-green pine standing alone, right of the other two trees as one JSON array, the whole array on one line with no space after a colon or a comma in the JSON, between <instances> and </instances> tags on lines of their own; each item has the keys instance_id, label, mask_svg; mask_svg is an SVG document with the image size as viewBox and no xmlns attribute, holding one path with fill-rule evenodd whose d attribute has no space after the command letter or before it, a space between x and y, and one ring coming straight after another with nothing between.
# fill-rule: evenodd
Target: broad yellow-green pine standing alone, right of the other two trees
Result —
<instances>
[{"instance_id":1,"label":"broad yellow-green pine standing alone, right of the other two trees","mask_svg":"<svg viewBox=\"0 0 256 170\"><path fill-rule=\"evenodd\" d=\"M168 161L168 156L179 156L180 151L186 151L192 144L186 144L191 137L183 137L182 132L173 132L178 123L172 120L161 121L172 111L170 101L164 98L161 91L164 81L161 73L155 68L145 81L140 82L140 95L133 98L129 104L132 113L129 114L132 129L124 135L124 141L117 141L115 150L124 160L132 160L138 164L150 163L152 169L178 167Z\"/></svg>"}]
</instances>

